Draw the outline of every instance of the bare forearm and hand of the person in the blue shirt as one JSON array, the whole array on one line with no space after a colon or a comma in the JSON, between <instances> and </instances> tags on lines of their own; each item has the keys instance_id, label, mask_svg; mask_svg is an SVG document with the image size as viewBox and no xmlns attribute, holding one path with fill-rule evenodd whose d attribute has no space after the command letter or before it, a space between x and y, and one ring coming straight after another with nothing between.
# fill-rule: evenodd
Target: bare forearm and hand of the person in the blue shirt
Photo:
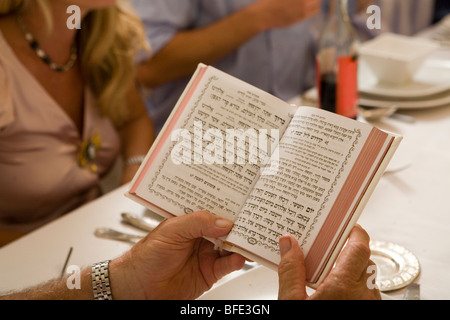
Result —
<instances>
[{"instance_id":1,"label":"bare forearm and hand of the person in the blue shirt","mask_svg":"<svg viewBox=\"0 0 450 320\"><path fill-rule=\"evenodd\" d=\"M320 4L321 0L259 0L212 25L181 31L138 67L138 78L151 88L192 74L199 62L213 64L261 32L312 16Z\"/></svg>"}]
</instances>

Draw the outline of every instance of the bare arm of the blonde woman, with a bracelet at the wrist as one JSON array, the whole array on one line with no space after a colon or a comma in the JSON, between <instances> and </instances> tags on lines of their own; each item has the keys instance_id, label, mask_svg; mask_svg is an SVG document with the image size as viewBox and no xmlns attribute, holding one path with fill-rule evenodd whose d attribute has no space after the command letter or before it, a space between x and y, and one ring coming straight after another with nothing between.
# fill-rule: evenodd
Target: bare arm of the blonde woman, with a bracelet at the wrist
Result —
<instances>
[{"instance_id":1,"label":"bare arm of the blonde woman, with a bracelet at the wrist","mask_svg":"<svg viewBox=\"0 0 450 320\"><path fill-rule=\"evenodd\" d=\"M136 86L130 90L127 97L130 119L120 128L123 158L129 159L137 155L146 155L155 140L155 130L149 118ZM139 164L124 168L122 184L131 181Z\"/></svg>"}]
</instances>

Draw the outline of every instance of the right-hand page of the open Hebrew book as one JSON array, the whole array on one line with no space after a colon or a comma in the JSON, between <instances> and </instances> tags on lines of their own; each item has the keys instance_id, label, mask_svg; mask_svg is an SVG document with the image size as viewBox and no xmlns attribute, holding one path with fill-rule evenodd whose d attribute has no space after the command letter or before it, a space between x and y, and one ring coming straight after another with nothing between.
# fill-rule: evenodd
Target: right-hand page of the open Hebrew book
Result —
<instances>
[{"instance_id":1,"label":"right-hand page of the open Hebrew book","mask_svg":"<svg viewBox=\"0 0 450 320\"><path fill-rule=\"evenodd\" d=\"M260 177L227 243L278 264L278 240L291 234L306 256L372 129L300 107L279 144L278 174Z\"/></svg>"}]
</instances>

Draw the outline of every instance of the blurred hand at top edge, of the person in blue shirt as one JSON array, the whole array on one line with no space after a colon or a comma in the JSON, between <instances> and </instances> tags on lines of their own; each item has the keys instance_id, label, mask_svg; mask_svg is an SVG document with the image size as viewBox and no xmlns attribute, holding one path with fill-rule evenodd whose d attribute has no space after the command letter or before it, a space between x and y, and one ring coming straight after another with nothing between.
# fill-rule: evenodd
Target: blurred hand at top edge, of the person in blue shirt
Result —
<instances>
[{"instance_id":1,"label":"blurred hand at top edge, of the person in blue shirt","mask_svg":"<svg viewBox=\"0 0 450 320\"><path fill-rule=\"evenodd\" d=\"M284 28L317 14L322 0L260 0L254 4L266 29Z\"/></svg>"}]
</instances>

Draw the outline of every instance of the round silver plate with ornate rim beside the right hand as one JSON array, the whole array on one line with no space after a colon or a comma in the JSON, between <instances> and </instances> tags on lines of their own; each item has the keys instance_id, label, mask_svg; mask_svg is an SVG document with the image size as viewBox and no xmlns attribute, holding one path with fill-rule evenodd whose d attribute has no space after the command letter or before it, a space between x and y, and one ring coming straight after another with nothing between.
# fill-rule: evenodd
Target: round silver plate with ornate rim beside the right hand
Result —
<instances>
[{"instance_id":1,"label":"round silver plate with ornate rim beside the right hand","mask_svg":"<svg viewBox=\"0 0 450 320\"><path fill-rule=\"evenodd\" d=\"M398 290L412 283L420 273L417 257L404 247L371 241L370 259L377 265L377 286L382 292Z\"/></svg>"}]
</instances>

